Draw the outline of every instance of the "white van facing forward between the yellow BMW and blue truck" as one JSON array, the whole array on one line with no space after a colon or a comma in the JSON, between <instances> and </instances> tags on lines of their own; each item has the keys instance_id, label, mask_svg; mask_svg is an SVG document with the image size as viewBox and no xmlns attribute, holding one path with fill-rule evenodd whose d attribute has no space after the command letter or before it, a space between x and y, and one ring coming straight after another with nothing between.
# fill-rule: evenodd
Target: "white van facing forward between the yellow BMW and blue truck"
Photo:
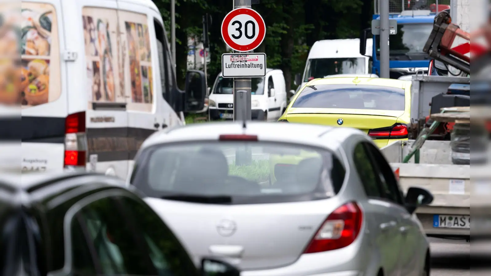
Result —
<instances>
[{"instance_id":1,"label":"white van facing forward between the yellow BMW and blue truck","mask_svg":"<svg viewBox=\"0 0 491 276\"><path fill-rule=\"evenodd\" d=\"M372 73L372 39L367 39L366 55L360 55L360 39L319 40L312 45L302 75L295 76L297 91L313 79L338 74Z\"/></svg>"}]
</instances>

